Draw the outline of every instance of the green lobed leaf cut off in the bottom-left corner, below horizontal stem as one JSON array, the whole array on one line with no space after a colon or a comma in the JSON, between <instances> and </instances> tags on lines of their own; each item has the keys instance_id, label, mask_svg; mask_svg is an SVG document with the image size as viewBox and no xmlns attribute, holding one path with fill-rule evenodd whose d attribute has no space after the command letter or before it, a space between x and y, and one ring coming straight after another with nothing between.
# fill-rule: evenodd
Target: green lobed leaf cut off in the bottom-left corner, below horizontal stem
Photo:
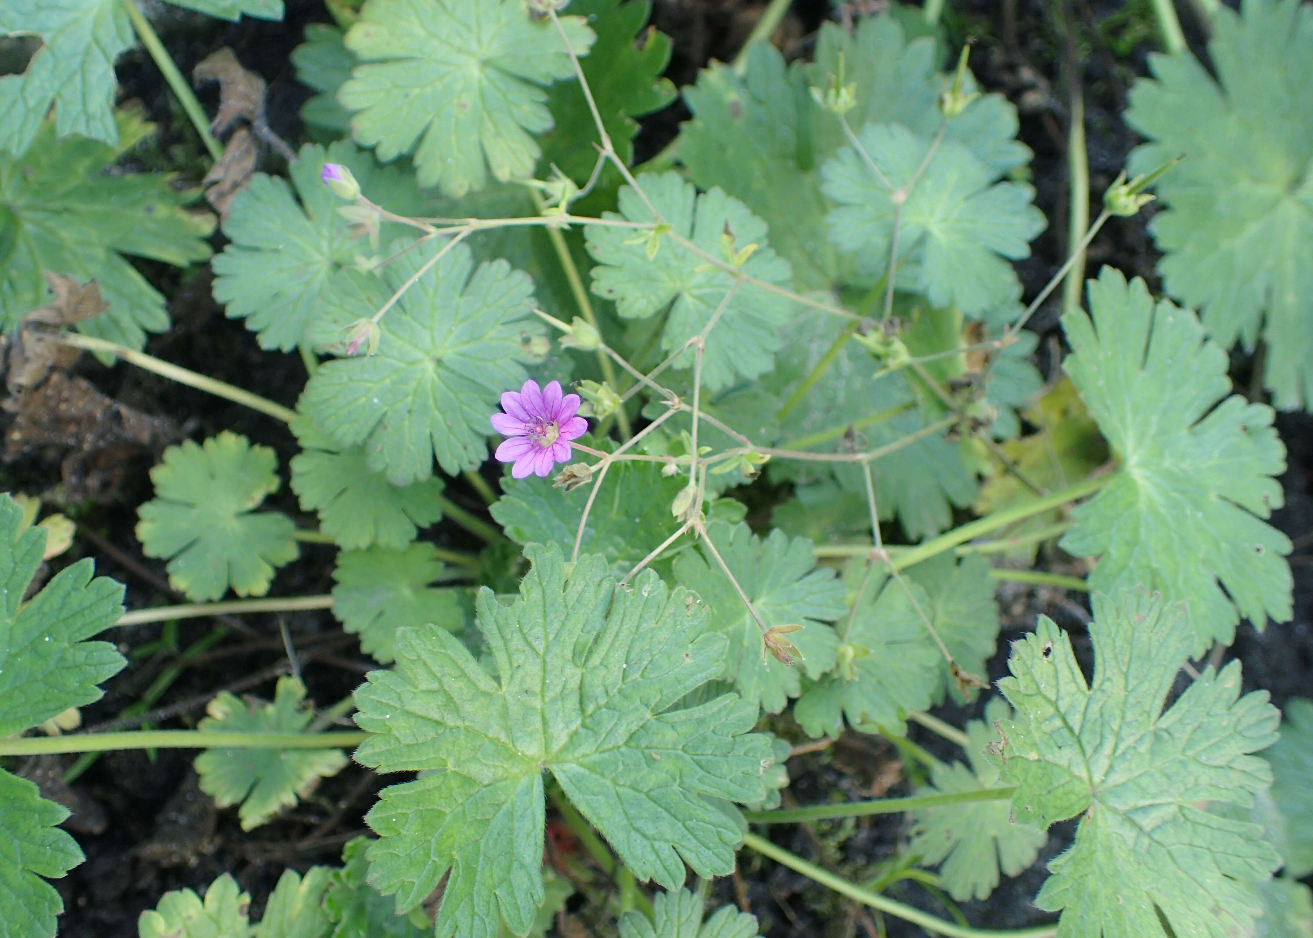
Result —
<instances>
[{"instance_id":1,"label":"green lobed leaf cut off in the bottom-left corner, below horizontal stem","mask_svg":"<svg viewBox=\"0 0 1313 938\"><path fill-rule=\"evenodd\" d=\"M59 879L83 862L77 842L56 826L66 817L32 782L0 769L0 938L54 938L64 904L42 876Z\"/></svg>"}]
</instances>

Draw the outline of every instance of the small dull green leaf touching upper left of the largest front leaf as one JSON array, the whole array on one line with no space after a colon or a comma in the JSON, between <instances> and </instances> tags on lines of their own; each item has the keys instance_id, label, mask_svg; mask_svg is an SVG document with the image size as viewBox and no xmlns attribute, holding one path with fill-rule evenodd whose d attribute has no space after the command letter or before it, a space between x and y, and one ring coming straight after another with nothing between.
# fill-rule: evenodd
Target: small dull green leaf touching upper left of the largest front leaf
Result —
<instances>
[{"instance_id":1,"label":"small dull green leaf touching upper left of the largest front leaf","mask_svg":"<svg viewBox=\"0 0 1313 938\"><path fill-rule=\"evenodd\" d=\"M432 544L411 544L402 550L370 548L343 550L332 578L332 614L360 649L382 665L394 661L397 629L437 625L452 632L465 627L463 589L433 589L442 575Z\"/></svg>"}]
</instances>

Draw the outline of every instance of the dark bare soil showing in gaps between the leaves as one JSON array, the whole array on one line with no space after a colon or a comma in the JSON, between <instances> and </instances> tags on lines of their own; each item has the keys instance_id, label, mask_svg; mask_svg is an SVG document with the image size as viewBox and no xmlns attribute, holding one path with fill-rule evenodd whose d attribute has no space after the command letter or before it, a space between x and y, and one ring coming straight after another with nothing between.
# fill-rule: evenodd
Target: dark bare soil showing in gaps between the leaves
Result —
<instances>
[{"instance_id":1,"label":"dark bare soil showing in gaps between the leaves","mask_svg":"<svg viewBox=\"0 0 1313 938\"><path fill-rule=\"evenodd\" d=\"M175 7L155 4L156 26L184 74L205 55L231 46L247 68L269 84L269 123L293 143L302 138L297 109L309 92L294 79L288 54L301 42L307 22L326 21L320 0L291 0L284 22L243 20L225 24L194 16ZM710 59L729 60L763 4L735 0L656 0L654 22L675 39L670 76L676 84L693 80L697 68ZM880 0L850 0L853 9L880 7ZM1035 255L1022 268L1027 297L1044 285L1066 256L1066 129L1070 88L1085 96L1090 150L1091 202L1099 204L1103 190L1124 164L1136 143L1121 123L1127 91L1137 75L1146 72L1146 55L1154 49L1154 33L1148 3L1117 0L949 0L945 22L956 49L966 37L976 42L972 66L982 84L1006 93L1022 113L1022 138L1035 151L1031 167L1037 204L1049 218L1048 230L1035 243ZM1196 30L1182 4L1187 32ZM807 37L815 30L830 4L826 0L800 0L777 35L790 54L806 54ZM1191 32L1199 49L1199 35ZM126 97L142 101L148 116L161 127L158 167L180 169L198 181L204 163L200 147L186 122L176 113L155 66L142 51L126 56L118 74ZM213 93L213 89L211 89ZM213 100L206 100L213 105ZM681 104L649 118L638 141L638 159L659 151L687 117ZM282 169L277 156L265 154L261 168ZM1113 264L1128 275L1145 277L1157 288L1157 255L1146 233L1152 209L1136 218L1113 219L1088 251L1088 269ZM249 388L274 401L291 405L305 372L295 356L261 352L253 336L239 322L227 321L210 298L206 275L177 272L146 264L146 271L172 298L173 328L151 342L150 349L169 361L202 370L218 378ZM1033 321L1045 336L1041 368L1054 364L1057 303L1050 301ZM118 399L146 413L172 418L184 432L211 435L219 430L246 434L256 443L278 451L282 465L294 455L291 439L277 422L235 405L226 405L200 391L169 384L131 368L110 372L88 363L85 373ZM1236 378L1249 386L1250 363L1236 357ZM1310 535L1313 532L1313 419L1283 415L1279 431L1289 451L1289 470L1283 478L1287 506L1275 523L1292 539L1295 619L1268 625L1258 632L1245 625L1228 657L1243 662L1246 686L1267 688L1279 704L1292 695L1313 695L1313 577L1309 575ZM89 539L80 537L71 552L93 556L100 573L127 585L130 607L176 602L168 591L163 565L143 560L133 535L135 506L150 497L146 476L151 453L129 465L113 499L83 510L79 518ZM7 468L11 485L30 491L49 486L56 462L32 457ZM471 508L479 504L463 482L450 483L449 493ZM295 499L282 491L273 498L282 511L301 518ZM312 519L305 519L310 523ZM428 532L452 545L478 549L478 544L457 531ZM1052 557L1054 565L1066 562ZM302 558L278 574L278 590L286 595L324 592L331 589L331 553L303 545ZM1073 629L1078 652L1088 656L1082 641L1088 620L1087 607L1070 595L1022 587L1001 592L1004 610L1004 640L1023 635L1039 614L1054 617ZM347 695L361 679L369 662L353 640L344 637L328 612L289 615L286 625L297 648L310 696L320 705ZM204 715L204 703L225 687L270 695L273 679L288 669L280 621L274 616L247 616L242 621L215 623L190 620L176 629L139 627L121 636L122 650L133 658L130 667L110 682L104 700L84 712L87 725L121 719L125 708L139 702L152 682L177 663L179 652L198 641L209 641L214 631L226 628L217 644L190 661L168 690L151 703L167 708L152 716L155 726L192 726ZM165 640L160 646L159 641ZM155 644L152 650L152 642ZM1007 641L990 663L990 678L1004 673ZM143 653L144 652L144 653ZM978 705L947 708L945 719L958 723L976 716ZM796 732L796 730L794 730ZM941 757L955 757L939 737L916 726L910 738ZM315 863L335 864L341 845L364 833L362 815L373 800L381 779L353 766L328 779L301 807L251 834L240 830L234 811L217 812L209 797L196 788L190 769L194 753L161 750L113 753L100 758L74 786L83 808L71 824L81 824L79 842L87 863L60 880L66 914L60 934L68 938L130 938L137 934L137 917L152 906L167 889L192 887L201 891L215 876L232 872L248 889L256 905L263 905L285 867L306 868ZM70 765L74 757L66 757ZM35 766L33 767L35 769ZM46 766L47 775L58 775ZM58 769L58 767L55 767ZM793 784L789 797L798 803L831 797L871 797L886 791L905 791L895 750L878 737L850 734L838 745L789 763ZM785 825L771 830L783 846L817 859L850 876L865 875L872 864L892 857L905 836L898 817L867 818L848 826L815 825L809 830ZM559 833L559 832L558 832ZM1050 837L1041 859L1065 845L1064 829ZM572 850L569 834L557 841ZM742 854L742 895L751 904L772 938L785 935L876 934L876 921L861 908L840 901L835 893L786 868L763 862L748 851ZM1022 876L1004 879L985 903L969 903L962 912L981 927L1015 927L1045 921L1031 900L1045 878L1043 864ZM738 901L731 879L718 880L716 892L723 901ZM928 892L915 885L895 885L892 897L947 914ZM582 901L579 897L574 900ZM574 908L574 906L572 906ZM588 921L588 909L579 909ZM898 920L884 922L889 935L922 934ZM588 931L592 933L592 931ZM604 934L604 931L597 931Z\"/></svg>"}]
</instances>

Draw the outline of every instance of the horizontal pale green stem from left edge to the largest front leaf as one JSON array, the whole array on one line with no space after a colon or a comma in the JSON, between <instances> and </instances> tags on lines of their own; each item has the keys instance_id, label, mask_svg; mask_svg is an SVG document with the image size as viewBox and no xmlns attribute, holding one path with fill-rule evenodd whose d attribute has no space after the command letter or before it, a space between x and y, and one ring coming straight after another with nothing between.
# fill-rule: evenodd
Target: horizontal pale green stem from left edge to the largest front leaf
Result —
<instances>
[{"instance_id":1,"label":"horizontal pale green stem from left edge to the largest front leaf","mask_svg":"<svg viewBox=\"0 0 1313 938\"><path fill-rule=\"evenodd\" d=\"M74 733L0 740L0 755L106 753L118 749L344 749L372 733L222 733L152 729L130 733Z\"/></svg>"}]
</instances>

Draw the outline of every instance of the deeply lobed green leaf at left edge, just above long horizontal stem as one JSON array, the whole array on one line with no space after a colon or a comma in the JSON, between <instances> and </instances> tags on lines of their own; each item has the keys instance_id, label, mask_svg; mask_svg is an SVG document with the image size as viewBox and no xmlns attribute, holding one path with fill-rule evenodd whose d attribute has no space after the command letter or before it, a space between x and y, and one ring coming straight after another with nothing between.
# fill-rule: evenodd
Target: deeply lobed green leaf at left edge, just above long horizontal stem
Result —
<instances>
[{"instance_id":1,"label":"deeply lobed green leaf at left edge, just above long horizontal stem","mask_svg":"<svg viewBox=\"0 0 1313 938\"><path fill-rule=\"evenodd\" d=\"M92 579L92 561L80 560L24 602L46 531L22 528L22 508L0 495L0 737L100 700L96 684L126 663L109 642L87 641L123 614L123 587Z\"/></svg>"}]
</instances>

